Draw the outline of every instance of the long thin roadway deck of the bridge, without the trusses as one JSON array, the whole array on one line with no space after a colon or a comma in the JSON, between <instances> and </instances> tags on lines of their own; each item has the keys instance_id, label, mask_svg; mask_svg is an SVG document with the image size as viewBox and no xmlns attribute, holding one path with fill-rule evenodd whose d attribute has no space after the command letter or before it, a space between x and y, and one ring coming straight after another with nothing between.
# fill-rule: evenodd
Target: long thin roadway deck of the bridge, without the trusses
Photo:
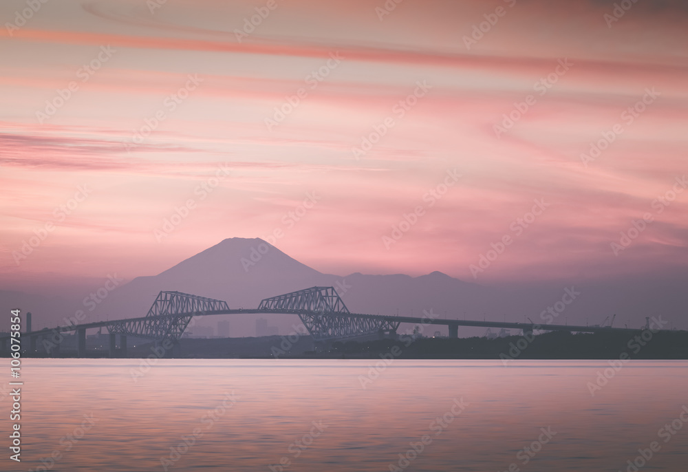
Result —
<instances>
[{"instance_id":1,"label":"long thin roadway deck of the bridge, without the trusses","mask_svg":"<svg viewBox=\"0 0 688 472\"><path fill-rule=\"evenodd\" d=\"M188 312L188 313L178 313L175 314L177 317L198 317L198 316L211 316L219 314L301 314L301 315L314 315L319 314L319 312L314 312L312 310L266 310L266 309L233 309L233 310L212 310L203 312ZM118 320L108 320L108 321L95 321L92 323L82 323L78 325L61 325L56 328L48 329L43 328L43 330L36 330L32 332L21 333L22 338L29 337L32 341L32 347L35 350L35 339L38 336L50 336L56 333L62 332L79 332L83 333L85 337L85 330L93 328L109 328L116 323L125 322L136 322L136 321L155 321L168 319L169 314L137 317L137 318L127 318ZM610 328L608 326L578 326L578 325L557 325L557 324L537 324L537 323L513 323L507 321L477 321L477 320L460 320L451 318L433 318L433 317L400 317L395 315L380 315L380 314L365 314L365 313L350 313L347 314L348 317L354 318L373 318L389 321L392 323L411 323L416 325L446 325L449 326L449 337L458 337L458 327L474 327L474 328L508 328L522 330L523 332L533 332L533 330L544 330L544 331L568 331L568 332L633 332L637 330L629 328ZM114 334L111 334L114 336ZM122 336L125 337L125 336ZM0 341L2 342L2 350L6 350L6 342L10 339L10 336L1 336Z\"/></svg>"}]
</instances>

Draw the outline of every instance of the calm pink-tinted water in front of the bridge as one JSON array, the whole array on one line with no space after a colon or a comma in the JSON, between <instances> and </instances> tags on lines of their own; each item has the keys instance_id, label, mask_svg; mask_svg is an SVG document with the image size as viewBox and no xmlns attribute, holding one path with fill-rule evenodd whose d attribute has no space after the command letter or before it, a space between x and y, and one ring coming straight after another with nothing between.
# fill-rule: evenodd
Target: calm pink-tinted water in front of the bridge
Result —
<instances>
[{"instance_id":1,"label":"calm pink-tinted water in front of the bridge","mask_svg":"<svg viewBox=\"0 0 688 472\"><path fill-rule=\"evenodd\" d=\"M687 361L631 361L594 396L607 361L374 364L162 359L134 380L140 360L24 359L22 462L0 470L626 471L653 441L641 470L688 469L688 425L658 436Z\"/></svg>"}]
</instances>

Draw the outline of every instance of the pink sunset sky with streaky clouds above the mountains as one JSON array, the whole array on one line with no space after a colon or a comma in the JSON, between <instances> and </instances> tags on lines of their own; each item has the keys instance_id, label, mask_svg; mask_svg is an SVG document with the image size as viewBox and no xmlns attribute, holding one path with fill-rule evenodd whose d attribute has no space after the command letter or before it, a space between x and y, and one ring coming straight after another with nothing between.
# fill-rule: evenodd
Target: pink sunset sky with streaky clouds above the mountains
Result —
<instances>
[{"instance_id":1,"label":"pink sunset sky with streaky clouds above the mountains","mask_svg":"<svg viewBox=\"0 0 688 472\"><path fill-rule=\"evenodd\" d=\"M681 270L688 8L624 4L3 1L0 283Z\"/></svg>"}]
</instances>

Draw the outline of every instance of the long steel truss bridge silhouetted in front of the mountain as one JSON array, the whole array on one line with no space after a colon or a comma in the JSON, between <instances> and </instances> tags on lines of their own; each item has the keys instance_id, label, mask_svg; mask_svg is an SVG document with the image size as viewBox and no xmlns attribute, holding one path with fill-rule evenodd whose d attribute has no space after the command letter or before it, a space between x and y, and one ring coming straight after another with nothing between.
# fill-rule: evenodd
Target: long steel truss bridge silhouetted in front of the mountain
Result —
<instances>
[{"instance_id":1,"label":"long steel truss bridge silhouetted in front of the mountain","mask_svg":"<svg viewBox=\"0 0 688 472\"><path fill-rule=\"evenodd\" d=\"M30 351L36 351L36 343L44 339L59 349L61 333L76 332L79 357L86 354L86 330L107 328L109 354L116 353L116 336L120 336L120 354L126 356L127 336L151 339L157 342L177 343L193 317L219 314L296 314L314 341L341 341L366 336L395 336L401 323L447 325L449 337L458 338L459 326L482 328L510 328L533 334L533 330L568 332L635 331L625 328L576 325L538 325L535 323L511 323L499 321L466 321L441 319L432 314L424 317L400 317L380 314L352 313L333 287L311 287L263 299L255 309L232 309L226 301L198 297L182 292L162 291L144 317L63 325L48 330L21 333L22 345L28 339ZM54 339L58 339L55 342ZM7 351L10 336L0 337L1 350Z\"/></svg>"}]
</instances>

